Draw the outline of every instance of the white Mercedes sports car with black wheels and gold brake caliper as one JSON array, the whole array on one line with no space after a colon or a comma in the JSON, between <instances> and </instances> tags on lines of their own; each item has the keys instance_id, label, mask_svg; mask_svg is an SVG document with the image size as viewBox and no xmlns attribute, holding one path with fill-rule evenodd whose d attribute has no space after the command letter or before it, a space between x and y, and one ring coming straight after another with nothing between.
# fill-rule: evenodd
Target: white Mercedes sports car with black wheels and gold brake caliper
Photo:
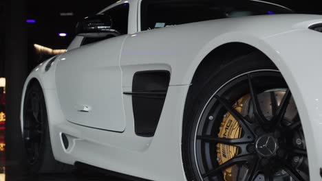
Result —
<instances>
[{"instance_id":1,"label":"white Mercedes sports car with black wheels and gold brake caliper","mask_svg":"<svg viewBox=\"0 0 322 181\"><path fill-rule=\"evenodd\" d=\"M322 16L263 1L118 1L23 89L30 173L321 180Z\"/></svg>"}]
</instances>

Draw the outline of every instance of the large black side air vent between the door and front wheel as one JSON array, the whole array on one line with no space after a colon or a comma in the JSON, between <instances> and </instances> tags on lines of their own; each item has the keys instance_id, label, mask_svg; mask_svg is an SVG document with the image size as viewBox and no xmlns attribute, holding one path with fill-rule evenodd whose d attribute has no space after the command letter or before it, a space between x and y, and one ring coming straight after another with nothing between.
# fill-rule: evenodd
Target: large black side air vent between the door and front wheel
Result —
<instances>
[{"instance_id":1,"label":"large black side air vent between the door and front wheel","mask_svg":"<svg viewBox=\"0 0 322 181\"><path fill-rule=\"evenodd\" d=\"M133 77L134 126L138 136L154 136L170 82L169 71L140 71Z\"/></svg>"}]
</instances>

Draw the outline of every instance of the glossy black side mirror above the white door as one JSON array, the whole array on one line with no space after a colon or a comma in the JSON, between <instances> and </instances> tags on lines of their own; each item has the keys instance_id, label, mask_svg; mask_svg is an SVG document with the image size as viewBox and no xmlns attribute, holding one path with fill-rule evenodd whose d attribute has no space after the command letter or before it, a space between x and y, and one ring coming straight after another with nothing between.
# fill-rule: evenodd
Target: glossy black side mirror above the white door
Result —
<instances>
[{"instance_id":1,"label":"glossy black side mirror above the white door","mask_svg":"<svg viewBox=\"0 0 322 181\"><path fill-rule=\"evenodd\" d=\"M105 14L96 14L89 16L76 25L76 34L78 36L100 38L105 36L118 36L120 33L112 29L112 20Z\"/></svg>"}]
</instances>

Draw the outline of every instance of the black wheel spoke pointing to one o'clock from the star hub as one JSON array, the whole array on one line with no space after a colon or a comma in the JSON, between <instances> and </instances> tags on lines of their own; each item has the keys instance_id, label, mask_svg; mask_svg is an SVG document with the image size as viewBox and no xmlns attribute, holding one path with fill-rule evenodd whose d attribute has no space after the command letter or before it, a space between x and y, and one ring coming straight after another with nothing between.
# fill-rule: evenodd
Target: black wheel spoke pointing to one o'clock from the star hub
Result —
<instances>
[{"instance_id":1,"label":"black wheel spoke pointing to one o'clock from the star hub","mask_svg":"<svg viewBox=\"0 0 322 181\"><path fill-rule=\"evenodd\" d=\"M288 104L290 104L291 97L292 93L290 92L290 89L286 90L286 93L281 100L281 104L279 104L279 108L277 108L276 114L272 118L272 127L279 125L284 119Z\"/></svg>"}]
</instances>

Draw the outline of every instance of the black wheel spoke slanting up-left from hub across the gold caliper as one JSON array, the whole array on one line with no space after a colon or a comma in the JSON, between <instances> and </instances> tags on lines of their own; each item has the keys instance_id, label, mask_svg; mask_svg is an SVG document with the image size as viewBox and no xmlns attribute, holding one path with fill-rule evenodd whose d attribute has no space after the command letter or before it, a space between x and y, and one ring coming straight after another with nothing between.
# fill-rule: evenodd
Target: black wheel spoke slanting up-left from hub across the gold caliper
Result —
<instances>
[{"instance_id":1,"label":"black wheel spoke slanting up-left from hub across the gold caliper","mask_svg":"<svg viewBox=\"0 0 322 181\"><path fill-rule=\"evenodd\" d=\"M228 110L228 112L230 112L230 114L238 121L239 125L241 126L241 128L244 130L244 133L247 134L245 136L249 136L249 140L253 140L254 137L254 133L253 131L249 128L250 124L248 123L248 121L245 119L245 117L243 117L243 115L241 115L237 110L235 110L233 108L233 106L230 106L230 104L228 103L228 101L226 99L223 99L222 97L219 97L218 95L215 95L215 98L219 101L220 104L222 104L222 106L224 106L224 108L226 108L226 110Z\"/></svg>"}]
</instances>

